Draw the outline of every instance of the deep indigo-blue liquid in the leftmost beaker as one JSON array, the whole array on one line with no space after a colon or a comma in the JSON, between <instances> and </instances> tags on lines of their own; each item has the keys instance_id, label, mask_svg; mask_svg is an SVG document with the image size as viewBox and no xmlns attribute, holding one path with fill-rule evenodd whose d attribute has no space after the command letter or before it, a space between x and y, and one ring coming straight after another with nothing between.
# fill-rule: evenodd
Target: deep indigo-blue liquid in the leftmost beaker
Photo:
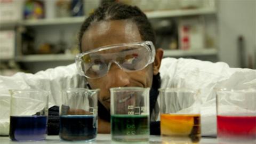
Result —
<instances>
[{"instance_id":1,"label":"deep indigo-blue liquid in the leftmost beaker","mask_svg":"<svg viewBox=\"0 0 256 144\"><path fill-rule=\"evenodd\" d=\"M44 140L47 134L46 116L11 116L10 139L14 141Z\"/></svg>"}]
</instances>

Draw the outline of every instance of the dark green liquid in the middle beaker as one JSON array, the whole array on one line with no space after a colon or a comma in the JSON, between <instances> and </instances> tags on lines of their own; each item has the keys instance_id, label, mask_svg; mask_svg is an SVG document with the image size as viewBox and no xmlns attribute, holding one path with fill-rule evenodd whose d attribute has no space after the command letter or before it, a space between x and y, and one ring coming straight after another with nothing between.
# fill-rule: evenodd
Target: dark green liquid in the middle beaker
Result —
<instances>
[{"instance_id":1,"label":"dark green liquid in the middle beaker","mask_svg":"<svg viewBox=\"0 0 256 144\"><path fill-rule=\"evenodd\" d=\"M111 137L116 141L148 141L149 115L111 115Z\"/></svg>"}]
</instances>

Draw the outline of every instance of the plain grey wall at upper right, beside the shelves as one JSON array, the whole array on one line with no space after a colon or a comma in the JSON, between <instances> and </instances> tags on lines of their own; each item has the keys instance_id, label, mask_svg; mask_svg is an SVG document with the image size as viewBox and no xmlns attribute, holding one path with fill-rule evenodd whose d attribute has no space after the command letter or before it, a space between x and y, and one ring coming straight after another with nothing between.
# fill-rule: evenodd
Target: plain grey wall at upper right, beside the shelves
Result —
<instances>
[{"instance_id":1,"label":"plain grey wall at upper right, beside the shelves","mask_svg":"<svg viewBox=\"0 0 256 144\"><path fill-rule=\"evenodd\" d=\"M219 60L230 67L241 67L238 57L237 39L244 37L245 61L248 67L249 55L256 68L256 1L255 0L219 0ZM254 59L253 59L254 58Z\"/></svg>"}]
</instances>

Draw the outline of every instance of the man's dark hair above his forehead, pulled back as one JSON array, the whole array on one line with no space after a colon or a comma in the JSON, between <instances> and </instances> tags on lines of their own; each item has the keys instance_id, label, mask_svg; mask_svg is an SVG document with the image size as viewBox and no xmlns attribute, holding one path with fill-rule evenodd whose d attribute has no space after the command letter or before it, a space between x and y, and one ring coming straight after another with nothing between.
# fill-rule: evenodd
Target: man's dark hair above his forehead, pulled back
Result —
<instances>
[{"instance_id":1,"label":"man's dark hair above his forehead, pulled back","mask_svg":"<svg viewBox=\"0 0 256 144\"><path fill-rule=\"evenodd\" d=\"M138 27L143 41L155 44L155 33L145 13L137 6L126 5L119 2L103 3L87 19L79 31L79 50L82 52L82 37L92 22L102 20L131 20Z\"/></svg>"}]
</instances>

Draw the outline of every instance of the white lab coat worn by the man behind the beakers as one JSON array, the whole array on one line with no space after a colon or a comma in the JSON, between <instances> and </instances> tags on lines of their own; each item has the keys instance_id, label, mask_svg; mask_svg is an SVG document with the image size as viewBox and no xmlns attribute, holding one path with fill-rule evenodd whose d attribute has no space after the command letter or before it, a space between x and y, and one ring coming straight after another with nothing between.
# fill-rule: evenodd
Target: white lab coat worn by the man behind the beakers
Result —
<instances>
[{"instance_id":1,"label":"white lab coat worn by the man behind the beakers","mask_svg":"<svg viewBox=\"0 0 256 144\"><path fill-rule=\"evenodd\" d=\"M186 87L201 91L202 135L216 135L216 87L243 89L256 87L256 70L229 68L227 63L194 59L164 58L159 70L161 88ZM85 78L77 74L75 64L39 71L0 76L0 135L9 133L9 89L41 89L50 91L49 106L59 105L61 90L82 87ZM159 102L159 97L158 97ZM159 119L159 118L158 118Z\"/></svg>"}]
</instances>

